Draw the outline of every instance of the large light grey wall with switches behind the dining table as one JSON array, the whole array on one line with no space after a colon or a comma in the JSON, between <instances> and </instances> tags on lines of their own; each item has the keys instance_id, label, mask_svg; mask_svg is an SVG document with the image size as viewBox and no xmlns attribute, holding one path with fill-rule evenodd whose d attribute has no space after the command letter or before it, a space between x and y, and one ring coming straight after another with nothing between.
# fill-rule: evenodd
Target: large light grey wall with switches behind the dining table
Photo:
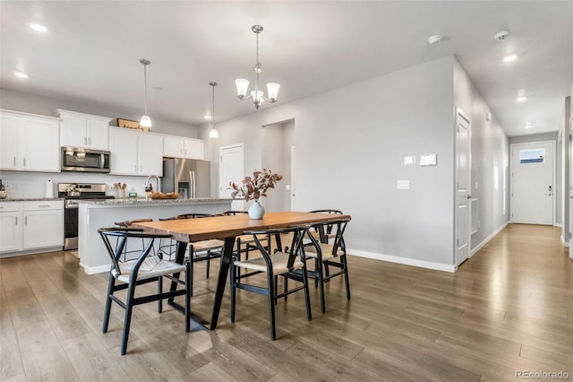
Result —
<instances>
[{"instance_id":1,"label":"large light grey wall with switches behind the dining table","mask_svg":"<svg viewBox=\"0 0 573 382\"><path fill-rule=\"evenodd\" d=\"M261 127L295 119L295 210L352 215L346 243L365 256L451 267L453 63L442 58L219 123L211 159L219 145L243 142L245 172L260 169ZM437 153L438 166L404 166L404 156L423 153ZM397 190L398 179L411 189Z\"/></svg>"}]
</instances>

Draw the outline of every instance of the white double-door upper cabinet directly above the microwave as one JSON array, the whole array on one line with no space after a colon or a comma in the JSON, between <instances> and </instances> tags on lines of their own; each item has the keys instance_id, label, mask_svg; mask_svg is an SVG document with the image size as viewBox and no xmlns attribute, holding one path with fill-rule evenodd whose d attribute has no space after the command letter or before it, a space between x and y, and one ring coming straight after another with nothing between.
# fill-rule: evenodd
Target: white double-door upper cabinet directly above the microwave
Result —
<instances>
[{"instance_id":1,"label":"white double-door upper cabinet directly above the microwave","mask_svg":"<svg viewBox=\"0 0 573 382\"><path fill-rule=\"evenodd\" d=\"M60 118L60 145L108 150L108 126L113 118L56 109Z\"/></svg>"}]
</instances>

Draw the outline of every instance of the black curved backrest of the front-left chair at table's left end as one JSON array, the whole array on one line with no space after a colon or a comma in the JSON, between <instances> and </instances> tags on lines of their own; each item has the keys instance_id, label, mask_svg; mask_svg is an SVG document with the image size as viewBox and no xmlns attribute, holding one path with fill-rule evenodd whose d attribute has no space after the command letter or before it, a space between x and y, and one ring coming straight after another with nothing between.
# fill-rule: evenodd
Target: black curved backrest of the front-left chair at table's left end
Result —
<instances>
[{"instance_id":1,"label":"black curved backrest of the front-left chair at table's left end","mask_svg":"<svg viewBox=\"0 0 573 382\"><path fill-rule=\"evenodd\" d=\"M119 264L121 263L121 256L124 256L127 250L128 239L142 239L144 245L141 248L141 253L138 260L133 265L134 272L137 272L145 257L149 256L155 239L171 239L171 235L158 235L144 233L143 230L137 228L100 228L98 230L101 239L104 241L104 246L107 249L107 255L110 257L111 263L117 275L121 274ZM112 245L112 241L115 241Z\"/></svg>"}]
</instances>

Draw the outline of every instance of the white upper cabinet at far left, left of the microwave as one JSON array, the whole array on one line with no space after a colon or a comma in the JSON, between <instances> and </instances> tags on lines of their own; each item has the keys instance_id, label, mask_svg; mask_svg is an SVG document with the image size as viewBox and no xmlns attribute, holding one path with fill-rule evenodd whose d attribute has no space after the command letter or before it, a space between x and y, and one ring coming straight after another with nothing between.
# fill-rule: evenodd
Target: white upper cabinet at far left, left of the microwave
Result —
<instances>
[{"instance_id":1,"label":"white upper cabinet at far left, left of the microwave","mask_svg":"<svg viewBox=\"0 0 573 382\"><path fill-rule=\"evenodd\" d=\"M59 121L0 110L0 169L60 171Z\"/></svg>"}]
</instances>

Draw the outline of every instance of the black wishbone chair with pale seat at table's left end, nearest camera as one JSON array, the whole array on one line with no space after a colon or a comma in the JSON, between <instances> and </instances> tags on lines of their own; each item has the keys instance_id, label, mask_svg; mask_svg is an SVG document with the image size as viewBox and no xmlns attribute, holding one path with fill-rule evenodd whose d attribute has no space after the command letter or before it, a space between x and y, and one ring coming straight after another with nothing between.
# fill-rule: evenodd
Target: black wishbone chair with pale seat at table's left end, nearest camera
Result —
<instances>
[{"instance_id":1,"label":"black wishbone chair with pale seat at table's left end, nearest camera","mask_svg":"<svg viewBox=\"0 0 573 382\"><path fill-rule=\"evenodd\" d=\"M129 339L129 330L132 321L133 307L145 304L151 301L158 301L158 312L163 310L162 301L169 299L170 305L177 310L184 312L185 332L191 329L190 319L190 293L191 285L190 268L188 264L181 265L158 256L156 248L162 239L171 239L170 235L156 235L143 233L142 230L132 228L102 228L98 230L104 245L107 248L107 254L111 259L111 270L109 272L109 283L107 286L106 308L104 311L104 321L102 332L107 333L109 326L109 315L111 312L111 303L115 301L117 305L124 308L124 333L122 335L121 354L127 351L127 341ZM127 243L130 240L143 240L144 247L139 256L134 259L124 259L124 252ZM139 244L139 243L138 243ZM185 273L184 280L180 278L181 273ZM163 291L163 278L171 281L172 288L170 291ZM120 282L115 284L115 282ZM156 294L148 294L141 297L135 297L135 288L148 282L157 282L158 289ZM183 285L184 289L177 291L177 284ZM116 291L127 290L125 301L119 300L115 296ZM173 299L176 296L184 296L184 307L175 303Z\"/></svg>"}]
</instances>

